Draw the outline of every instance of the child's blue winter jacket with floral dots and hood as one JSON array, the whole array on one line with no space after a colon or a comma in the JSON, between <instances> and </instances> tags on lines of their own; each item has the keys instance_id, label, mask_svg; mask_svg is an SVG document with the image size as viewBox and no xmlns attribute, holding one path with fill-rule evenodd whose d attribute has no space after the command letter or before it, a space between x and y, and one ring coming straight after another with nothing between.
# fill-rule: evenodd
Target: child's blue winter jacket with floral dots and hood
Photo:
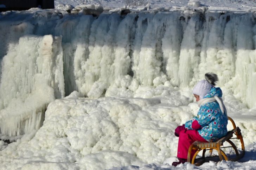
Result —
<instances>
[{"instance_id":1,"label":"child's blue winter jacket with floral dots and hood","mask_svg":"<svg viewBox=\"0 0 256 170\"><path fill-rule=\"evenodd\" d=\"M212 87L210 92L204 98L222 97L222 90L219 87ZM192 129L192 122L197 120L201 125L198 133L208 142L215 142L227 134L228 117L222 114L217 101L203 104L197 117L185 123L185 128Z\"/></svg>"}]
</instances>

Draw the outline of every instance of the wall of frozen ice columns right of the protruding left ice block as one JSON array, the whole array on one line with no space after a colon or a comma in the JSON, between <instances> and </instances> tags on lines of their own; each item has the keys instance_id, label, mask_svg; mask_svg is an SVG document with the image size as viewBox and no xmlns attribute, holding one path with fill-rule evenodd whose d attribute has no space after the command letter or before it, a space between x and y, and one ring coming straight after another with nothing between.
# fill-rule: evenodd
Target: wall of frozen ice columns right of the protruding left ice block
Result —
<instances>
[{"instance_id":1,"label":"wall of frozen ice columns right of the protruding left ice block","mask_svg":"<svg viewBox=\"0 0 256 170\"><path fill-rule=\"evenodd\" d=\"M155 86L160 79L191 88L214 72L226 93L256 107L254 18L251 12L180 11L62 19L57 35L68 31L62 45L72 48L64 56L73 62L64 68L65 90L97 98L113 84L128 89L130 83ZM117 83L128 75L132 82Z\"/></svg>"}]
</instances>

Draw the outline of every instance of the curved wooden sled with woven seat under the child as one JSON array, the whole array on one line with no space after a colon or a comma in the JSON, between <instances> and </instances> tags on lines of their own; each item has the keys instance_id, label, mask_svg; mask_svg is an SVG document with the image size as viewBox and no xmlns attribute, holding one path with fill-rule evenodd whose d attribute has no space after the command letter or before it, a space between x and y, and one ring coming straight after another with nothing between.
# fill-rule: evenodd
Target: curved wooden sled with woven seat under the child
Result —
<instances>
[{"instance_id":1,"label":"curved wooden sled with woven seat under the child","mask_svg":"<svg viewBox=\"0 0 256 170\"><path fill-rule=\"evenodd\" d=\"M241 130L239 127L236 127L235 122L232 120L232 118L228 117L228 120L232 123L233 129L228 131L228 134L221 138L220 140L216 142L199 142L195 141L190 145L190 148L188 149L188 154L187 154L187 162L190 162L191 164L195 164L197 166L203 164L204 162L207 162L207 160L211 160L213 157L219 157L218 160L222 161L237 161L238 159L242 158L245 154L245 149L244 149L244 141L243 141L243 136L241 134ZM235 134L235 137L233 137L233 134ZM233 140L240 140L241 142L241 152L239 153L236 145L232 142ZM223 144L229 143L228 147L224 147ZM235 151L236 155L235 158L228 158L228 156L225 154L225 152L222 150L223 148L233 148ZM191 151L192 149L197 150L196 153L194 154L193 158L190 159L191 157ZM218 156L212 156L212 151L213 149L217 150ZM201 158L197 158L196 156L198 153L203 150L203 154ZM205 152L206 150L209 150L209 155L205 157Z\"/></svg>"}]
</instances>

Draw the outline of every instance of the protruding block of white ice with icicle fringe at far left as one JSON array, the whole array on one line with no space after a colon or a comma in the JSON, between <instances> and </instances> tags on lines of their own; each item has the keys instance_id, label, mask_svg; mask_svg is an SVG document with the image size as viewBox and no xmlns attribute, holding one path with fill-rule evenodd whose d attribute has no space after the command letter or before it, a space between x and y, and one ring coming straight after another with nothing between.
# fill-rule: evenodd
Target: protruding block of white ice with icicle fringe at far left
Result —
<instances>
[{"instance_id":1,"label":"protruding block of white ice with icicle fringe at far left","mask_svg":"<svg viewBox=\"0 0 256 170\"><path fill-rule=\"evenodd\" d=\"M0 128L9 136L39 129L44 111L64 97L61 39L24 36L9 45L2 60Z\"/></svg>"}]
</instances>

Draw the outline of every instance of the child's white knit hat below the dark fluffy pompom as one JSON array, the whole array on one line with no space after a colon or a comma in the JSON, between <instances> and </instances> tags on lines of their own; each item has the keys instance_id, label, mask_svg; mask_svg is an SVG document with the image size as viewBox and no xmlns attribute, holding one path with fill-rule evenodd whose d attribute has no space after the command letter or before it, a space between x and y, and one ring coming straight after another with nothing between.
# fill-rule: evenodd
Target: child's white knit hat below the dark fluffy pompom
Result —
<instances>
[{"instance_id":1,"label":"child's white knit hat below the dark fluffy pompom","mask_svg":"<svg viewBox=\"0 0 256 170\"><path fill-rule=\"evenodd\" d=\"M193 88L193 94L198 95L200 100L210 92L213 85L209 83L207 80L199 81L196 86Z\"/></svg>"}]
</instances>

